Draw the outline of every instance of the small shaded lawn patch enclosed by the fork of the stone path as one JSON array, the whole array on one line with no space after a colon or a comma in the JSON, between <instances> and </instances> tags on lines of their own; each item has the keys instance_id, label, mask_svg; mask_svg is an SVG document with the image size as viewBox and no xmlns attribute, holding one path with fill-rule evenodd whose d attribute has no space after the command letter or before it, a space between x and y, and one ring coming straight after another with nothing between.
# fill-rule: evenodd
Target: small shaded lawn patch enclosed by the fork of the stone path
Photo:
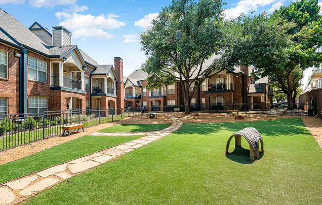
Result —
<instances>
[{"instance_id":1,"label":"small shaded lawn patch enclosed by the fork of the stone path","mask_svg":"<svg viewBox=\"0 0 322 205\"><path fill-rule=\"evenodd\" d=\"M105 128L103 130L97 132L145 132L145 131L153 131L153 130L162 130L164 128L169 127L170 124L130 124L130 125L114 125L112 127Z\"/></svg>"}]
</instances>

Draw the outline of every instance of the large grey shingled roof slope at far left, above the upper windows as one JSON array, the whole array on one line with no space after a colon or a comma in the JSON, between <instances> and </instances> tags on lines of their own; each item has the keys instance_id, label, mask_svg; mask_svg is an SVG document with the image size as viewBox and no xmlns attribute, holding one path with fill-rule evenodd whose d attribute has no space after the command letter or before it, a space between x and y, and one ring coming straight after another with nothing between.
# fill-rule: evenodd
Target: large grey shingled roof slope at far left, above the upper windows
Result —
<instances>
[{"instance_id":1,"label":"large grey shingled roof slope at far left, above the upper windows","mask_svg":"<svg viewBox=\"0 0 322 205\"><path fill-rule=\"evenodd\" d=\"M35 49L40 53L49 55L48 46L37 35L27 29L16 18L0 9L0 28L19 44L26 48ZM2 32L3 32L2 31Z\"/></svg>"}]
</instances>

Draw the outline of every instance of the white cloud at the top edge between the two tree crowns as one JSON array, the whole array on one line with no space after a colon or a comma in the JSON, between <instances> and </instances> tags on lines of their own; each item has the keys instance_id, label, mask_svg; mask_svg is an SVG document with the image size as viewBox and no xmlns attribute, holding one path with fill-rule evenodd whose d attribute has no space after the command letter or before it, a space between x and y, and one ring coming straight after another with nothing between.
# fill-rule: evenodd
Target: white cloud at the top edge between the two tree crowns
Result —
<instances>
[{"instance_id":1,"label":"white cloud at the top edge between the two tree crowns","mask_svg":"<svg viewBox=\"0 0 322 205\"><path fill-rule=\"evenodd\" d=\"M236 6L225 10L226 19L236 18L241 13L247 14L250 11L256 10L258 7L266 6L275 3L277 0L241 0L236 3Z\"/></svg>"}]
</instances>

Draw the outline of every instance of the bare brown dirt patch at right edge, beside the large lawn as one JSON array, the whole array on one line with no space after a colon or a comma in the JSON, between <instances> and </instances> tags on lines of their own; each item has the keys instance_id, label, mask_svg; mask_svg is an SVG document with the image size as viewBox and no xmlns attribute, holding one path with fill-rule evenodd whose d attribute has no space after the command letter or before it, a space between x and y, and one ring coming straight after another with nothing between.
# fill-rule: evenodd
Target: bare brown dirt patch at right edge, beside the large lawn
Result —
<instances>
[{"instance_id":1,"label":"bare brown dirt patch at right edge, beside the large lawn","mask_svg":"<svg viewBox=\"0 0 322 205\"><path fill-rule=\"evenodd\" d=\"M322 148L322 120L318 117L303 116L302 121Z\"/></svg>"}]
</instances>

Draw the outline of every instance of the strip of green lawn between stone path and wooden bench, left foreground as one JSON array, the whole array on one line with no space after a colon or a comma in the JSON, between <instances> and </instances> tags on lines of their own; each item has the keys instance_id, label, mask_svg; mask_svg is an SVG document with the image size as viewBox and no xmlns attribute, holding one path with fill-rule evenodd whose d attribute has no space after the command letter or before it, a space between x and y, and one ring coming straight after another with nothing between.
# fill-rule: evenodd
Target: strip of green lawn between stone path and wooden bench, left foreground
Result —
<instances>
[{"instance_id":1,"label":"strip of green lawn between stone path and wooden bench, left foreground","mask_svg":"<svg viewBox=\"0 0 322 205\"><path fill-rule=\"evenodd\" d=\"M0 183L142 136L83 136L0 165Z\"/></svg>"}]
</instances>

